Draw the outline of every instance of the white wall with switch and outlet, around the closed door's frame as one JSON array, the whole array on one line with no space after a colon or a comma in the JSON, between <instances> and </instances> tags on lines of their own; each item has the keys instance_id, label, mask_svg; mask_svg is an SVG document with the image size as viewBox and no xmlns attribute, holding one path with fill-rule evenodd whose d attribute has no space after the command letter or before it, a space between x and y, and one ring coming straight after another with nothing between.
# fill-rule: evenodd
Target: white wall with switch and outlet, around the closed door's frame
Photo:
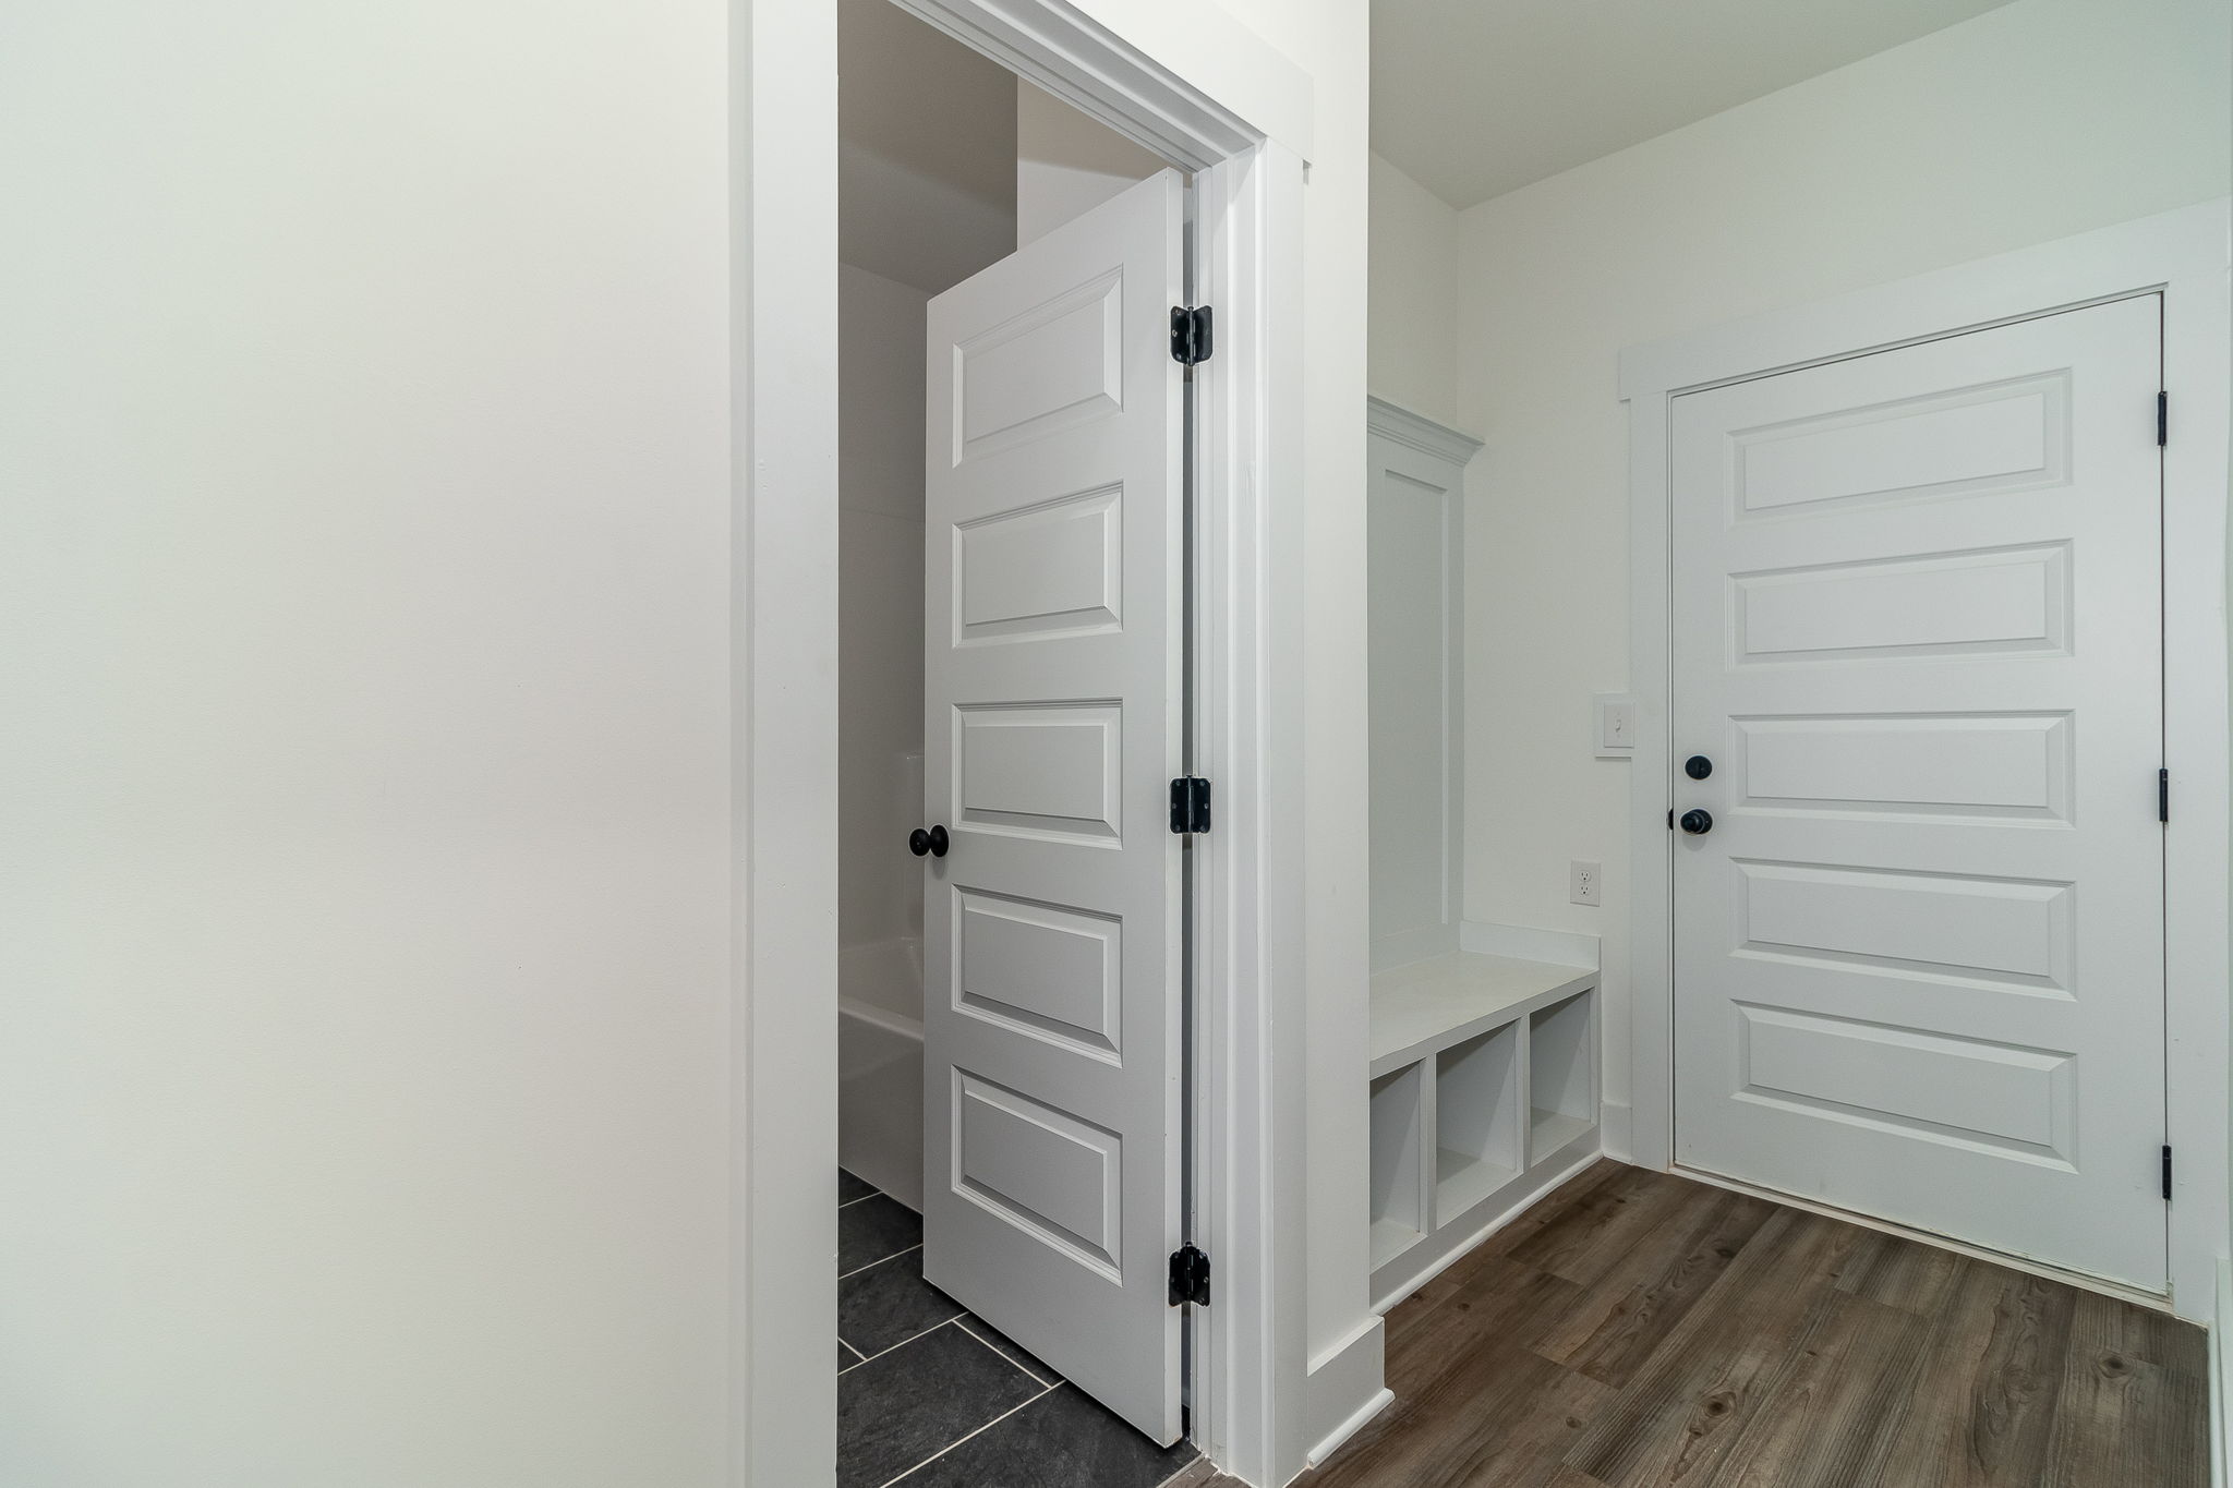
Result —
<instances>
[{"instance_id":1,"label":"white wall with switch and outlet, around the closed door's frame","mask_svg":"<svg viewBox=\"0 0 2233 1488\"><path fill-rule=\"evenodd\" d=\"M1628 1100L1623 346L2052 241L2233 187L2222 0L2016 0L1460 214L1467 919L1606 953ZM1568 904L1568 861L1603 906Z\"/></svg>"}]
</instances>

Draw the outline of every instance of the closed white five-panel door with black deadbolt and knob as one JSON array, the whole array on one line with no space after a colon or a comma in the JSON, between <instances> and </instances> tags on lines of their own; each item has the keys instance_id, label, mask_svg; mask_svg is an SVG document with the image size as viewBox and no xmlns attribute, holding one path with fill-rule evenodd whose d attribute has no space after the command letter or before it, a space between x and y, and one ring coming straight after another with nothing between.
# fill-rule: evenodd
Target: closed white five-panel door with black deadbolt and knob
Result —
<instances>
[{"instance_id":1,"label":"closed white five-panel door with black deadbolt and knob","mask_svg":"<svg viewBox=\"0 0 2233 1488\"><path fill-rule=\"evenodd\" d=\"M1710 817L1675 830L1677 1160L2148 1292L2157 317L1684 395L1670 448L1673 801Z\"/></svg>"}]
</instances>

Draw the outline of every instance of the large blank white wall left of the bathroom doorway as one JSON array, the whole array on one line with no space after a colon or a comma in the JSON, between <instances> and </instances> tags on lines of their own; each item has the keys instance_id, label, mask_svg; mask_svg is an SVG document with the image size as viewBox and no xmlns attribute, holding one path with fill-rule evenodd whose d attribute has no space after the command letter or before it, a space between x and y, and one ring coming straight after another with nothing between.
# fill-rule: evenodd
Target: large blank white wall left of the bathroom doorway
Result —
<instances>
[{"instance_id":1,"label":"large blank white wall left of the bathroom doorway","mask_svg":"<svg viewBox=\"0 0 2233 1488\"><path fill-rule=\"evenodd\" d=\"M0 31L0 1481L723 1481L726 7Z\"/></svg>"}]
</instances>

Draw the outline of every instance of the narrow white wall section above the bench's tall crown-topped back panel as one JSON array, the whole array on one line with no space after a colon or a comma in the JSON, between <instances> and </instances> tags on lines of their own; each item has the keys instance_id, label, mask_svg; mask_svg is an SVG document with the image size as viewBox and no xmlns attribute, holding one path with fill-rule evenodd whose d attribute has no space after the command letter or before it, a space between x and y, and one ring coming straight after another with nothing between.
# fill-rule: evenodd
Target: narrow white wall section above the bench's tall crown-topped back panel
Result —
<instances>
[{"instance_id":1,"label":"narrow white wall section above the bench's tall crown-topped back panel","mask_svg":"<svg viewBox=\"0 0 2233 1488\"><path fill-rule=\"evenodd\" d=\"M1469 433L1458 402L1458 210L1376 154L1367 390Z\"/></svg>"}]
</instances>

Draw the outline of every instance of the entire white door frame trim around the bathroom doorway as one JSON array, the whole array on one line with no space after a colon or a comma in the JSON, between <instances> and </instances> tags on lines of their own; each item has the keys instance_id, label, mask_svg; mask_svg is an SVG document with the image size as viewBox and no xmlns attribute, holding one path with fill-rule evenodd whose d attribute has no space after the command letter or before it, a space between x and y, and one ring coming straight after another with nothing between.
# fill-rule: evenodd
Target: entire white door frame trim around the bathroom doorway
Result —
<instances>
[{"instance_id":1,"label":"entire white door frame trim around the bathroom doorway","mask_svg":"<svg viewBox=\"0 0 2233 1488\"><path fill-rule=\"evenodd\" d=\"M1190 1437L1286 1481L1309 1452L1304 986L1304 172L1313 89L1239 22L1172 11L1146 45L1067 0L893 0L1195 172L1217 306L1197 379L1197 1234ZM1208 27L1208 33L1204 33ZM1166 45L1168 42L1168 45ZM735 192L730 1475L826 1484L837 1167L837 25L835 0L730 4ZM753 223L779 223L757 234ZM768 843L764 852L755 841Z\"/></svg>"}]
</instances>

